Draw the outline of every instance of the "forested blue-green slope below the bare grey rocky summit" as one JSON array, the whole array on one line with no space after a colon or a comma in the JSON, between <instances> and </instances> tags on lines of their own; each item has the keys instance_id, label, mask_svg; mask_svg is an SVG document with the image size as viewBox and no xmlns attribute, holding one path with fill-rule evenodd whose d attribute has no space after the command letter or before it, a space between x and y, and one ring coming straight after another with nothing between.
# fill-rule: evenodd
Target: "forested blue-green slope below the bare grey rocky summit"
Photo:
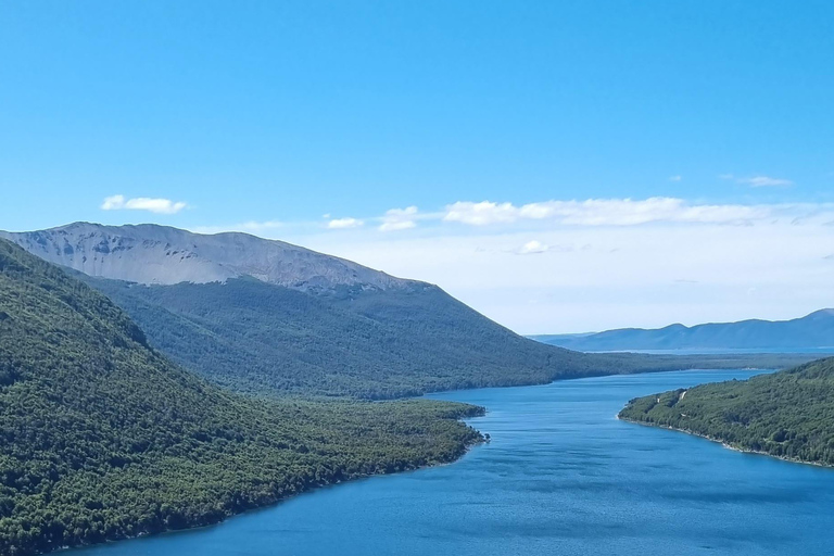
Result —
<instances>
[{"instance_id":1,"label":"forested blue-green slope below the bare grey rocky summit","mask_svg":"<svg viewBox=\"0 0 834 556\"><path fill-rule=\"evenodd\" d=\"M430 285L313 294L254 278L141 286L77 276L125 309L154 348L247 393L379 400L621 372L781 368L810 359L571 352L522 338Z\"/></svg>"}]
</instances>

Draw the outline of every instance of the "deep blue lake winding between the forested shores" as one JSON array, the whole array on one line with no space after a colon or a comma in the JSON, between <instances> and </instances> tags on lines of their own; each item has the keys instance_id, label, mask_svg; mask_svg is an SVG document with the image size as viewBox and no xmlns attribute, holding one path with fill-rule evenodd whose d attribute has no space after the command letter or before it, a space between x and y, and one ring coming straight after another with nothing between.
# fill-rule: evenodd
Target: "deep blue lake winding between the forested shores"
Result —
<instances>
[{"instance_id":1,"label":"deep blue lake winding between the forested shores","mask_svg":"<svg viewBox=\"0 0 834 556\"><path fill-rule=\"evenodd\" d=\"M462 460L71 556L827 555L834 470L622 422L630 399L754 371L604 377L431 397L483 405Z\"/></svg>"}]
</instances>

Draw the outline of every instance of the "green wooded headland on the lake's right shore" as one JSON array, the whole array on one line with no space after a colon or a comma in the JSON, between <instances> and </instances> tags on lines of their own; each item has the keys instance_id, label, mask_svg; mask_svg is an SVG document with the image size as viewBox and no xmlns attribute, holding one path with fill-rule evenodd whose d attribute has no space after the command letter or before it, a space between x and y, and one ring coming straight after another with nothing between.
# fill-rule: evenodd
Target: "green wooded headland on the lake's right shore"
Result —
<instances>
[{"instance_id":1,"label":"green wooded headland on the lake's right shore","mask_svg":"<svg viewBox=\"0 0 834 556\"><path fill-rule=\"evenodd\" d=\"M629 402L620 417L834 466L834 358Z\"/></svg>"}]
</instances>

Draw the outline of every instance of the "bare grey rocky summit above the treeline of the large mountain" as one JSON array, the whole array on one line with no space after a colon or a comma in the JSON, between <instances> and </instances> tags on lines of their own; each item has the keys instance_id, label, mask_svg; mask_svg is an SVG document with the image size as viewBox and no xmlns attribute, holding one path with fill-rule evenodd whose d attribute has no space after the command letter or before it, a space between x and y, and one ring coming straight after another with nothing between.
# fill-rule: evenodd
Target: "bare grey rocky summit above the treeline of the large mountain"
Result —
<instances>
[{"instance_id":1,"label":"bare grey rocky summit above the treeline of the large mountain","mask_svg":"<svg viewBox=\"0 0 834 556\"><path fill-rule=\"evenodd\" d=\"M153 224L75 223L39 231L0 231L0 237L90 276L148 285L222 282L242 276L300 290L391 290L419 283L248 233L208 236Z\"/></svg>"}]
</instances>

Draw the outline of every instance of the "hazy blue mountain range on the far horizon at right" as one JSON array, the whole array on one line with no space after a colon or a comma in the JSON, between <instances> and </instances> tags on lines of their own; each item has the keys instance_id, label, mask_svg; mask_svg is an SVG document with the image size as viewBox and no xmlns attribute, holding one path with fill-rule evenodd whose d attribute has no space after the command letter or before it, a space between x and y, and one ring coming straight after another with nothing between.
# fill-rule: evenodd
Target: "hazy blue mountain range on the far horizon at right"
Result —
<instances>
[{"instance_id":1,"label":"hazy blue mountain range on the far horizon at right","mask_svg":"<svg viewBox=\"0 0 834 556\"><path fill-rule=\"evenodd\" d=\"M741 320L658 329L623 328L586 334L531 337L570 350L819 350L834 352L834 309L824 308L793 320Z\"/></svg>"}]
</instances>

